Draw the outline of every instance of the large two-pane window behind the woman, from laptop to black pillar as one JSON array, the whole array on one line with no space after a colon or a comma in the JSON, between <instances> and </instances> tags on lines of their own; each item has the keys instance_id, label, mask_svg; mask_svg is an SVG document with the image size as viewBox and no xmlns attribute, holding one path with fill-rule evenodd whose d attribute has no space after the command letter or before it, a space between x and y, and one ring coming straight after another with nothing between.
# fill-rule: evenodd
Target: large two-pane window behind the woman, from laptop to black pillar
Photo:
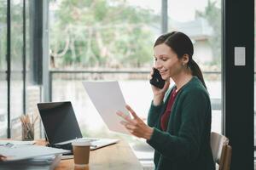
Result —
<instances>
[{"instance_id":1,"label":"large two-pane window behind the woman, from laptop to black pillar","mask_svg":"<svg viewBox=\"0 0 256 170\"><path fill-rule=\"evenodd\" d=\"M184 31L194 40L195 60L205 71L212 97L212 129L220 132L220 2L207 2L168 1L168 31ZM109 132L82 81L118 80L126 103L146 118L153 96L147 77L153 65L154 40L161 33L160 15L157 0L49 3L51 100L72 101L84 136L127 139L142 161L152 161L153 150L141 139Z\"/></svg>"}]
</instances>

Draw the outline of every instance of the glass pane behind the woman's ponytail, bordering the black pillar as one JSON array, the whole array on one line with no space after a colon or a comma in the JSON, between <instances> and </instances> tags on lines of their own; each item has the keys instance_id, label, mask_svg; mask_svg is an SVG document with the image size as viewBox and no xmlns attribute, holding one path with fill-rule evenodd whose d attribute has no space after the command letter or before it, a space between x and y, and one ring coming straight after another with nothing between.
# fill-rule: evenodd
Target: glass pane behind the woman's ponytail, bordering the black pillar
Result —
<instances>
[{"instance_id":1,"label":"glass pane behind the woman's ponytail, bordering the black pillar","mask_svg":"<svg viewBox=\"0 0 256 170\"><path fill-rule=\"evenodd\" d=\"M212 101L212 131L221 133L221 1L168 0L168 29L182 31L194 43Z\"/></svg>"}]
</instances>

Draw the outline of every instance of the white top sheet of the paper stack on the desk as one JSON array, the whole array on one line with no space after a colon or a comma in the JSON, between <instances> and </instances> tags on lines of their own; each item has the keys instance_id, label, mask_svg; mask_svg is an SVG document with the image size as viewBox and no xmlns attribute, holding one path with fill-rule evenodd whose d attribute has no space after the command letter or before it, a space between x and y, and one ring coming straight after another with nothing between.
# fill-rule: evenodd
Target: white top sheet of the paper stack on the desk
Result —
<instances>
[{"instance_id":1,"label":"white top sheet of the paper stack on the desk","mask_svg":"<svg viewBox=\"0 0 256 170\"><path fill-rule=\"evenodd\" d=\"M50 156L69 152L70 150L62 150L39 145L15 145L13 147L0 146L0 155L7 157L4 161L19 161L38 156Z\"/></svg>"}]
</instances>

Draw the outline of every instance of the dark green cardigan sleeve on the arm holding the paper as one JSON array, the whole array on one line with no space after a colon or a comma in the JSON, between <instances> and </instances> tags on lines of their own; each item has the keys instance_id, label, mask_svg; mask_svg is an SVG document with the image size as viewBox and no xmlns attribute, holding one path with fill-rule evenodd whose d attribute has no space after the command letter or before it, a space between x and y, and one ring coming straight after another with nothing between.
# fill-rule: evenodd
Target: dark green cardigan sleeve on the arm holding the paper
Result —
<instances>
[{"instance_id":1,"label":"dark green cardigan sleeve on the arm holding the paper","mask_svg":"<svg viewBox=\"0 0 256 170\"><path fill-rule=\"evenodd\" d=\"M181 107L182 122L177 136L154 128L147 142L167 159L195 161L201 150L201 137L207 126L207 116L211 116L208 115L209 112L211 114L208 94L197 89L190 91L183 96Z\"/></svg>"}]
</instances>

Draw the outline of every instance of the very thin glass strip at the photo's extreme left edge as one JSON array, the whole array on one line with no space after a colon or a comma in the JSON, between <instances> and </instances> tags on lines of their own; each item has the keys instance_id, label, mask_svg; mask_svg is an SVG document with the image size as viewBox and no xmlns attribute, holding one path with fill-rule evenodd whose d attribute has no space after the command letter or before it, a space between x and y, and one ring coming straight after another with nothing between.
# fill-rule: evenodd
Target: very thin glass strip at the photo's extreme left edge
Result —
<instances>
[{"instance_id":1,"label":"very thin glass strip at the photo's extreme left edge","mask_svg":"<svg viewBox=\"0 0 256 170\"><path fill-rule=\"evenodd\" d=\"M7 1L0 0L0 138L7 138Z\"/></svg>"}]
</instances>

